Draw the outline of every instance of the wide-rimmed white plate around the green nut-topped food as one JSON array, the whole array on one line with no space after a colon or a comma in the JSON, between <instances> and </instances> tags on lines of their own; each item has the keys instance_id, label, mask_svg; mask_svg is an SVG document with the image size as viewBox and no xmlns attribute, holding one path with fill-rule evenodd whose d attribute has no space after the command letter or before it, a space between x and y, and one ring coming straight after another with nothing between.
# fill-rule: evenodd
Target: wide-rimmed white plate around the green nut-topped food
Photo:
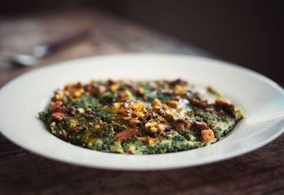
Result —
<instances>
[{"instance_id":1,"label":"wide-rimmed white plate around the green nut-topped food","mask_svg":"<svg viewBox=\"0 0 284 195\"><path fill-rule=\"evenodd\" d=\"M178 77L223 91L244 108L247 118L213 145L163 155L121 155L77 147L49 133L38 119L53 91L69 82ZM107 169L170 169L236 157L283 133L283 111L283 89L270 79L226 62L186 55L126 54L71 60L23 74L0 90L0 130L6 138L54 160Z\"/></svg>"}]
</instances>

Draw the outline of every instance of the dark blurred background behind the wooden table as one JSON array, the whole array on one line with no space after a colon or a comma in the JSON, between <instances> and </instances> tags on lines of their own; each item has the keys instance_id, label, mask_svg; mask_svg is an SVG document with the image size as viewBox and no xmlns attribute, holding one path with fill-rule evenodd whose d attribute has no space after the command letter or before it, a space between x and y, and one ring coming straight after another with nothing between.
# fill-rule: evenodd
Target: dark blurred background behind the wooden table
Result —
<instances>
[{"instance_id":1,"label":"dark blurred background behind the wooden table","mask_svg":"<svg viewBox=\"0 0 284 195\"><path fill-rule=\"evenodd\" d=\"M102 9L284 83L283 5L283 1L2 0L0 14L9 18L78 7Z\"/></svg>"}]
</instances>

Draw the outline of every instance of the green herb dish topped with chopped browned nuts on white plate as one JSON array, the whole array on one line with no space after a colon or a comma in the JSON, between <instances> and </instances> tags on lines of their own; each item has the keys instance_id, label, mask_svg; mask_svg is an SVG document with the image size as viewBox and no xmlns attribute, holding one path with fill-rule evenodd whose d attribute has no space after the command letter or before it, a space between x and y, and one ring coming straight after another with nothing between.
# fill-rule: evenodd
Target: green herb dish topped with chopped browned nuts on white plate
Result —
<instances>
[{"instance_id":1,"label":"green herb dish topped with chopped browned nuts on white plate","mask_svg":"<svg viewBox=\"0 0 284 195\"><path fill-rule=\"evenodd\" d=\"M216 142L243 118L211 87L173 81L92 81L55 91L39 113L51 133L102 152L160 154Z\"/></svg>"}]
</instances>

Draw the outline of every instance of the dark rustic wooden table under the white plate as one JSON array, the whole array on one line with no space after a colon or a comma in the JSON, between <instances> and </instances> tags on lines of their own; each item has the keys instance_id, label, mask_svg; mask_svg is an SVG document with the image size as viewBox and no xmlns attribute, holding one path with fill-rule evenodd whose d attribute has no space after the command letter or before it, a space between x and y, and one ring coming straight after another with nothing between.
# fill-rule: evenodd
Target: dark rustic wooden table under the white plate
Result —
<instances>
[{"instance_id":1,"label":"dark rustic wooden table under the white plate","mask_svg":"<svg viewBox=\"0 0 284 195\"><path fill-rule=\"evenodd\" d=\"M41 60L15 67L10 55L90 23L88 40ZM171 52L209 56L135 23L99 11L41 13L0 21L0 86L52 62L119 52ZM67 165L34 155L0 135L0 194L284 194L284 135L231 160L168 171L124 172Z\"/></svg>"}]
</instances>

